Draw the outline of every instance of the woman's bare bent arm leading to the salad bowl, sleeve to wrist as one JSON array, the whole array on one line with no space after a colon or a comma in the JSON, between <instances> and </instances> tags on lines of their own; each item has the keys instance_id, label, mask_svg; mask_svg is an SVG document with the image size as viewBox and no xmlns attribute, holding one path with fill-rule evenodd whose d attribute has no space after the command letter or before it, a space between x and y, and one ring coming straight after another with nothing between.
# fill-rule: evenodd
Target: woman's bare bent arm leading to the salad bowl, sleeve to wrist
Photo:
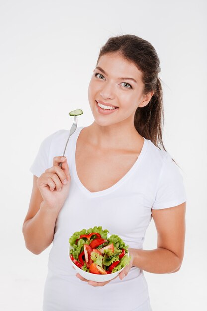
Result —
<instances>
[{"instance_id":1,"label":"woman's bare bent arm leading to the salad bowl, sleeve to wrist","mask_svg":"<svg viewBox=\"0 0 207 311\"><path fill-rule=\"evenodd\" d=\"M172 273L180 269L184 255L185 210L186 202L171 208L152 209L157 229L157 248L129 248L134 266L151 273Z\"/></svg>"}]
</instances>

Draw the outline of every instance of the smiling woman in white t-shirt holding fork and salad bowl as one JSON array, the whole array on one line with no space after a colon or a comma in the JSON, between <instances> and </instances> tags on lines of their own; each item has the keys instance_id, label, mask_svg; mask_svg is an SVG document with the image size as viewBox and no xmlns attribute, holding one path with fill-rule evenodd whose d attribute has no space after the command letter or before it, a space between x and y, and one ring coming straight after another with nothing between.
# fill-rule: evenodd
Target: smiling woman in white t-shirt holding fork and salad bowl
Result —
<instances>
[{"instance_id":1,"label":"smiling woman in white t-shirt holding fork and salad bowl","mask_svg":"<svg viewBox=\"0 0 207 311\"><path fill-rule=\"evenodd\" d=\"M162 142L159 59L149 42L121 35L106 42L96 65L88 88L94 122L76 129L63 158L69 131L42 142L23 234L35 254L53 241L44 311L149 311L143 270L178 271L185 237L182 176ZM157 248L143 250L151 217ZM130 264L109 282L87 281L69 263L69 237L94 226L129 245Z\"/></svg>"}]
</instances>

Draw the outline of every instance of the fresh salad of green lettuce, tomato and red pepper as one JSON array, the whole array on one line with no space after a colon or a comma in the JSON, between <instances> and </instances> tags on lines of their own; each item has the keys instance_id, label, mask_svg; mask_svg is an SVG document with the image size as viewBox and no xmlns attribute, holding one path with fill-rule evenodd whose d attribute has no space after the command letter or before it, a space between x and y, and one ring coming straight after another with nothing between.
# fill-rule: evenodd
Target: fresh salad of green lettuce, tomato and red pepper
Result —
<instances>
[{"instance_id":1,"label":"fresh salad of green lettuce, tomato and red pepper","mask_svg":"<svg viewBox=\"0 0 207 311\"><path fill-rule=\"evenodd\" d=\"M118 235L108 237L102 226L75 232L69 239L70 258L79 268L95 274L109 274L129 264L128 245Z\"/></svg>"}]
</instances>

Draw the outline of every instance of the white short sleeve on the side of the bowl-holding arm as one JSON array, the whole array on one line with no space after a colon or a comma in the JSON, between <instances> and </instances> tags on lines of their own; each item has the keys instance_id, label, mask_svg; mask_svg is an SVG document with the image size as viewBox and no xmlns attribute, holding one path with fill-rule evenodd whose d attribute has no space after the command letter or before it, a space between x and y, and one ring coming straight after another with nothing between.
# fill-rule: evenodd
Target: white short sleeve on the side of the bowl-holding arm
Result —
<instances>
[{"instance_id":1,"label":"white short sleeve on the side of the bowl-holding arm","mask_svg":"<svg viewBox=\"0 0 207 311\"><path fill-rule=\"evenodd\" d=\"M152 209L164 209L177 206L186 201L183 177L178 166L167 154L158 182L156 198Z\"/></svg>"}]
</instances>

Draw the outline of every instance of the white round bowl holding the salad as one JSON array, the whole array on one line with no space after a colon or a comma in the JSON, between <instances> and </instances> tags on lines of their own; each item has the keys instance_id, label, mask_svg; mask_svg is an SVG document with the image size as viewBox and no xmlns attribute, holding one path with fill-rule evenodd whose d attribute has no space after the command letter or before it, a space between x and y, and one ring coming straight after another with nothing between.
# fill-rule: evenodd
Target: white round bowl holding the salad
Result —
<instances>
[{"instance_id":1,"label":"white round bowl holding the salad","mask_svg":"<svg viewBox=\"0 0 207 311\"><path fill-rule=\"evenodd\" d=\"M108 237L110 236L110 234L108 234ZM122 269L120 269L117 272L113 272L110 274L94 274L94 273L90 273L87 271L84 271L82 269L80 269L78 266L76 266L76 264L72 261L72 259L70 258L70 250L72 249L72 246L70 246L69 244L69 248L68 248L68 253L69 253L69 260L71 262L71 264L73 265L73 267L75 268L75 270L86 280L89 281L95 281L95 282L106 282L106 281L110 281L112 279L114 279L116 276L119 275L119 273L124 269L124 267ZM127 253L128 257L129 255L129 251Z\"/></svg>"}]
</instances>

